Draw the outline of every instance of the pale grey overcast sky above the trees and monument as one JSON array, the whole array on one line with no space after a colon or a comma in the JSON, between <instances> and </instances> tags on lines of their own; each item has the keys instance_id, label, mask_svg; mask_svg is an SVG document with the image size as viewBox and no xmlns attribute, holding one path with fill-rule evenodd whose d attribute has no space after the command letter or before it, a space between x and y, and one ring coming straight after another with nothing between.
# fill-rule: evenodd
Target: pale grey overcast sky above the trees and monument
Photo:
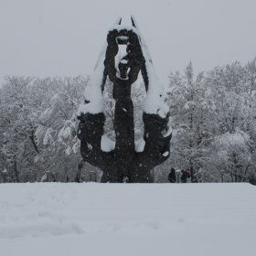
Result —
<instances>
[{"instance_id":1,"label":"pale grey overcast sky above the trees and monument","mask_svg":"<svg viewBox=\"0 0 256 256\"><path fill-rule=\"evenodd\" d=\"M109 27L134 15L163 83L256 56L256 0L0 0L0 85L9 76L91 75Z\"/></svg>"}]
</instances>

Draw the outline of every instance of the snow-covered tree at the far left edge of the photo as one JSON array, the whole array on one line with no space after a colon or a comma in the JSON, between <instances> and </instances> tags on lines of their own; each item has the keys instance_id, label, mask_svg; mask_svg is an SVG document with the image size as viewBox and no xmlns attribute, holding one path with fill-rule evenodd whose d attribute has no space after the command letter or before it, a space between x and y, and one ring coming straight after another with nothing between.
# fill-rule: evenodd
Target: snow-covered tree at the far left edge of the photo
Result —
<instances>
[{"instance_id":1,"label":"snow-covered tree at the far left edge of the photo","mask_svg":"<svg viewBox=\"0 0 256 256\"><path fill-rule=\"evenodd\" d=\"M35 142L39 102L32 78L6 78L1 91L2 155L10 182L27 181L26 176L38 166L33 157L38 154Z\"/></svg>"}]
</instances>

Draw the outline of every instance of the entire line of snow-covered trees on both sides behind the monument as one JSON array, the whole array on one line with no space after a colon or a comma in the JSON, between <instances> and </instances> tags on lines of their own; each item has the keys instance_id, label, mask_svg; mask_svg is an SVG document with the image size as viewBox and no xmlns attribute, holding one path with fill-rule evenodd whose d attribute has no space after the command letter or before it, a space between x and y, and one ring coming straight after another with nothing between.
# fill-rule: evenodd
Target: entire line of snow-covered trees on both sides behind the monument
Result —
<instances>
[{"instance_id":1,"label":"entire line of snow-covered trees on both sides behind the monument","mask_svg":"<svg viewBox=\"0 0 256 256\"><path fill-rule=\"evenodd\" d=\"M76 111L89 78L6 77L0 91L1 182L100 181L84 163ZM192 63L171 73L166 89L173 128L170 158L152 170L167 182L171 167L191 182L256 184L256 59L197 76ZM135 139L143 136L144 85L133 84ZM104 90L105 133L114 141L112 83ZM4 180L5 179L5 180Z\"/></svg>"}]
</instances>

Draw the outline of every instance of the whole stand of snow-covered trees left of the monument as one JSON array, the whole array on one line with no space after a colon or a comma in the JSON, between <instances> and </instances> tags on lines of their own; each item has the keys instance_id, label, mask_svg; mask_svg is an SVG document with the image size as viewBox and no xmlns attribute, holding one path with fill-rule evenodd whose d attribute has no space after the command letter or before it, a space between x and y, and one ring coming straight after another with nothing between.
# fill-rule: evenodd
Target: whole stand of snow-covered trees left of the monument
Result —
<instances>
[{"instance_id":1,"label":"whole stand of snow-covered trees left of the monument","mask_svg":"<svg viewBox=\"0 0 256 256\"><path fill-rule=\"evenodd\" d=\"M68 180L80 164L74 113L88 79L12 77L0 94L1 165L9 182ZM56 177L57 176L57 177ZM60 178L61 176L61 178Z\"/></svg>"}]
</instances>

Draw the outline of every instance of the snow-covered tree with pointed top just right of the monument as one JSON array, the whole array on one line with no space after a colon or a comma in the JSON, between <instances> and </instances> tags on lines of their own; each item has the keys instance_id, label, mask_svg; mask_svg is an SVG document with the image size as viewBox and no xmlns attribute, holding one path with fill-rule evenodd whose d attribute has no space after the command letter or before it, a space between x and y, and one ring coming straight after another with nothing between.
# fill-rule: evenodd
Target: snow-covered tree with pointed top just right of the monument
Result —
<instances>
[{"instance_id":1,"label":"snow-covered tree with pointed top just right of the monument","mask_svg":"<svg viewBox=\"0 0 256 256\"><path fill-rule=\"evenodd\" d=\"M169 76L168 89L174 137L171 142L171 162L179 169L190 169L191 182L205 181L208 168L208 145L212 140L215 101L205 86L203 73L194 80L192 63L185 74Z\"/></svg>"}]
</instances>

